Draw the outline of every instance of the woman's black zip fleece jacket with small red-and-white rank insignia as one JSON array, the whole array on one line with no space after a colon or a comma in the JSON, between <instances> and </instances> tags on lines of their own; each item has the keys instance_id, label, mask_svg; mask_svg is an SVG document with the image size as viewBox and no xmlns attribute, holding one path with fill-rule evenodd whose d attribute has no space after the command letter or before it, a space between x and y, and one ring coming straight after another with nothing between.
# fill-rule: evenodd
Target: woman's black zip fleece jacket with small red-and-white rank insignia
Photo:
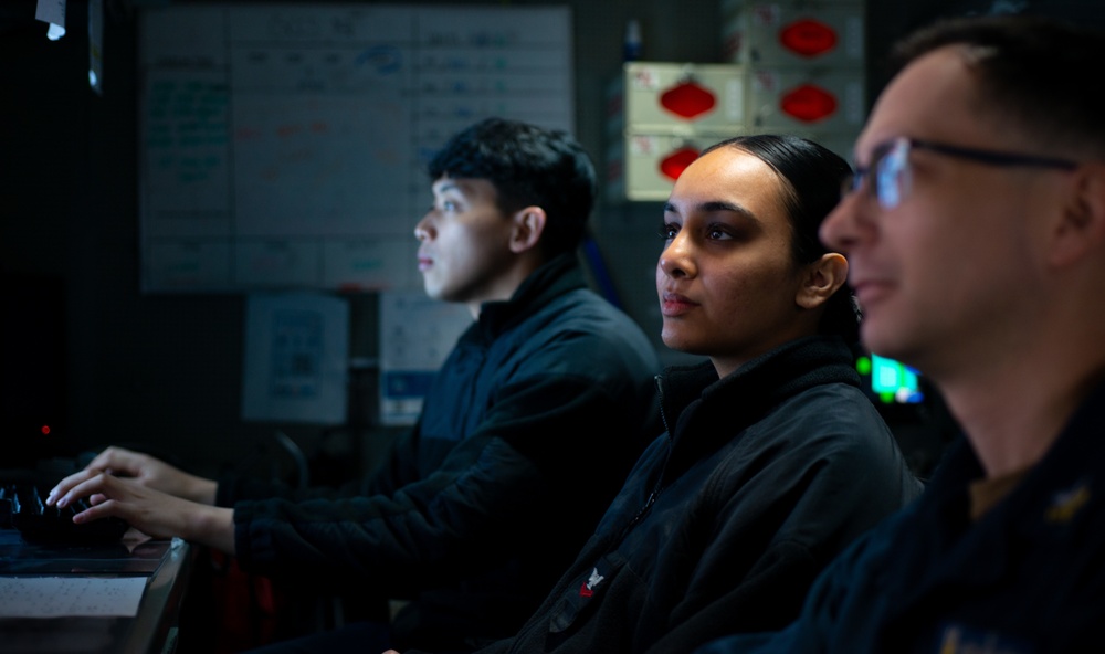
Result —
<instances>
[{"instance_id":1,"label":"woman's black zip fleece jacket with small red-and-white rank insignia","mask_svg":"<svg viewBox=\"0 0 1105 654\"><path fill-rule=\"evenodd\" d=\"M537 613L481 652L684 653L780 627L836 552L920 492L835 337L659 381L670 433Z\"/></svg>"}]
</instances>

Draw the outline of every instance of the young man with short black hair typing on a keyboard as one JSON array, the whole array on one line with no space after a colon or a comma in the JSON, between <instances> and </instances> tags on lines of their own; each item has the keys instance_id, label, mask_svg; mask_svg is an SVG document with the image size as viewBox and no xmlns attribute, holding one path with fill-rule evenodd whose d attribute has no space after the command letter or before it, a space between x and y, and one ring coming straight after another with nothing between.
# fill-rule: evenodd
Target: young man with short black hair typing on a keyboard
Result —
<instances>
[{"instance_id":1,"label":"young man with short black hair typing on a keyboard","mask_svg":"<svg viewBox=\"0 0 1105 654\"><path fill-rule=\"evenodd\" d=\"M640 454L660 365L640 327L586 287L576 247L594 171L571 137L484 120L453 137L430 175L433 207L414 229L425 292L476 320L418 424L362 484L275 498L112 449L52 502L102 494L78 521L119 516L248 571L411 600L386 642L359 625L294 651L455 652L514 633Z\"/></svg>"}]
</instances>

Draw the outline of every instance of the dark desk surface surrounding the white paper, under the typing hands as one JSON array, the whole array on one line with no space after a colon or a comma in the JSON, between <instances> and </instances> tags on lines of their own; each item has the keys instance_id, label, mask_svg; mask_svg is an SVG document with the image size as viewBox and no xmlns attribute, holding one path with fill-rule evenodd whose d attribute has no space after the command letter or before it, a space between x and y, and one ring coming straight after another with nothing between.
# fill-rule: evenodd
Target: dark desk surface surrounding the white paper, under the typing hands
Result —
<instances>
[{"instance_id":1,"label":"dark desk surface surrounding the white paper, under the typing hands","mask_svg":"<svg viewBox=\"0 0 1105 654\"><path fill-rule=\"evenodd\" d=\"M0 529L0 577L145 578L134 616L12 618L0 614L6 653L171 652L172 626L187 588L191 549L180 540L133 539L97 546L43 546Z\"/></svg>"}]
</instances>

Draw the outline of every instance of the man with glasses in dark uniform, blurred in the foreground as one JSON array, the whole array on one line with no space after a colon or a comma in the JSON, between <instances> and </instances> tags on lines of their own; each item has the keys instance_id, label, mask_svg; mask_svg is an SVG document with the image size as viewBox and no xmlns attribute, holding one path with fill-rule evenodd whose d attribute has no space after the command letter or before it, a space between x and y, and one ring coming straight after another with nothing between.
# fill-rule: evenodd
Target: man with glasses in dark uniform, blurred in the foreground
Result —
<instances>
[{"instance_id":1,"label":"man with glasses in dark uniform, blurred in the foreground","mask_svg":"<svg viewBox=\"0 0 1105 654\"><path fill-rule=\"evenodd\" d=\"M903 41L822 225L873 351L965 437L797 622L699 650L1097 651L1105 623L1105 34L960 19Z\"/></svg>"}]
</instances>

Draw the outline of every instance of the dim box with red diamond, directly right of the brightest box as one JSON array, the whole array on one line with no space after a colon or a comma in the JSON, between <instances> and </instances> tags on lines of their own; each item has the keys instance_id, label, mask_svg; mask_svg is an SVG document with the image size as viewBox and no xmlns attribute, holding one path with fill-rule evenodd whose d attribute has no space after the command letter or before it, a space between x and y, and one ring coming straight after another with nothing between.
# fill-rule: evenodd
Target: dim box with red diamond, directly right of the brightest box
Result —
<instances>
[{"instance_id":1,"label":"dim box with red diamond, directly right of the brightest box","mask_svg":"<svg viewBox=\"0 0 1105 654\"><path fill-rule=\"evenodd\" d=\"M748 83L749 127L859 133L866 116L864 85L857 71L754 68Z\"/></svg>"}]
</instances>

